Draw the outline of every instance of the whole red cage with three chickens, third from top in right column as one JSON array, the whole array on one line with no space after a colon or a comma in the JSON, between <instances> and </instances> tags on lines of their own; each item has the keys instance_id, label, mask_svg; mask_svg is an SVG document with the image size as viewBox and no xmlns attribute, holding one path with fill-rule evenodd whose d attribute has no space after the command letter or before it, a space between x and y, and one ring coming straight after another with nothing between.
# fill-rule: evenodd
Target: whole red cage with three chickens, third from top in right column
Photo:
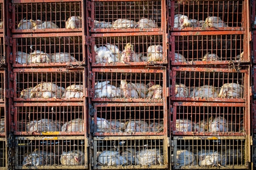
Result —
<instances>
[{"instance_id":1,"label":"whole red cage with three chickens, third from top in right column","mask_svg":"<svg viewBox=\"0 0 256 170\"><path fill-rule=\"evenodd\" d=\"M238 68L236 71L233 67L231 69L214 66L173 67L171 74L172 100L241 103L248 100L250 89L248 68Z\"/></svg>"}]
</instances>

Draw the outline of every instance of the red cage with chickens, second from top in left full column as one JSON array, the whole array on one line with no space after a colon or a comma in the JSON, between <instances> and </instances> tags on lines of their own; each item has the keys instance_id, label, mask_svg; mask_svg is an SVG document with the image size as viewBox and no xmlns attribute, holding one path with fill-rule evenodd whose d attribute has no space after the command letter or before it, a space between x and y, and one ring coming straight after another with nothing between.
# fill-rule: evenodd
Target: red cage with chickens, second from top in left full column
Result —
<instances>
[{"instance_id":1,"label":"red cage with chickens, second from top in left full column","mask_svg":"<svg viewBox=\"0 0 256 170\"><path fill-rule=\"evenodd\" d=\"M13 35L14 67L85 65L82 33L48 33Z\"/></svg>"}]
</instances>

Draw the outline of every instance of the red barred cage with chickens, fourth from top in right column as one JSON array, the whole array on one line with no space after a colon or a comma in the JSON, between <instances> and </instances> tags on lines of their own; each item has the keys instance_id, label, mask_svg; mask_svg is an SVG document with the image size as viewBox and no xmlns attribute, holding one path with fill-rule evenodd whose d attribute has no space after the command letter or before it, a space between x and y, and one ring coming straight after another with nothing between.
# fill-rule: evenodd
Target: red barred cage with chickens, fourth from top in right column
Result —
<instances>
[{"instance_id":1,"label":"red barred cage with chickens, fourth from top in right column","mask_svg":"<svg viewBox=\"0 0 256 170\"><path fill-rule=\"evenodd\" d=\"M243 103L173 103L172 111L174 135L248 134Z\"/></svg>"}]
</instances>

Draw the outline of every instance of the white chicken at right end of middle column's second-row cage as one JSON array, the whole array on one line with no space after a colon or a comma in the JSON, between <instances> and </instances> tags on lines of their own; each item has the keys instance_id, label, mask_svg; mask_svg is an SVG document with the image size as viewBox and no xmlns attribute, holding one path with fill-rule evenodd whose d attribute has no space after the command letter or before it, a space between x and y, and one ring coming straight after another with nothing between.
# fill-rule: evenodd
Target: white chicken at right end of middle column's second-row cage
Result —
<instances>
[{"instance_id":1,"label":"white chicken at right end of middle column's second-row cage","mask_svg":"<svg viewBox=\"0 0 256 170\"><path fill-rule=\"evenodd\" d=\"M163 46L151 45L147 48L148 61L163 61Z\"/></svg>"}]
</instances>

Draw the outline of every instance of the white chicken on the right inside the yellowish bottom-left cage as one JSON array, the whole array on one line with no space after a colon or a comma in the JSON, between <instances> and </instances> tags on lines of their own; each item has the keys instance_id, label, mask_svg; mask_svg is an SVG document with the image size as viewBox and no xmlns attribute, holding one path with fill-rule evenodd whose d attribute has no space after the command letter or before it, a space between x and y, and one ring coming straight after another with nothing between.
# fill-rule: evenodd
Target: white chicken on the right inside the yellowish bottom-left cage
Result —
<instances>
[{"instance_id":1,"label":"white chicken on the right inside the yellowish bottom-left cage","mask_svg":"<svg viewBox=\"0 0 256 170\"><path fill-rule=\"evenodd\" d=\"M60 163L63 165L84 165L85 154L80 150L64 151L60 156Z\"/></svg>"}]
</instances>

